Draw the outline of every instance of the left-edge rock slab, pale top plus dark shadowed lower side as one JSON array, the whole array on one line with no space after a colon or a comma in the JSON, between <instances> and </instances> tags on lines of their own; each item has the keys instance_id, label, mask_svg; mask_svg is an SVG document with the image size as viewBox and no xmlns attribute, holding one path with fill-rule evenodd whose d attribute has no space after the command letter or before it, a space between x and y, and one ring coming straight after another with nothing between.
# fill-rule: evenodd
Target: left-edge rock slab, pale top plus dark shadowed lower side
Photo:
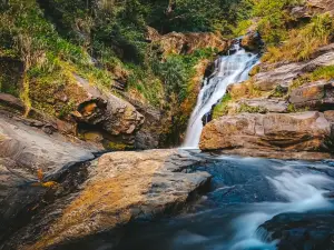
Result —
<instances>
[{"instance_id":1,"label":"left-edge rock slab, pale top plus dark shadowed lower side","mask_svg":"<svg viewBox=\"0 0 334 250\"><path fill-rule=\"evenodd\" d=\"M47 202L49 188L42 184L50 176L94 159L99 150L46 128L41 121L0 111L0 243L29 221L37 204Z\"/></svg>"}]
</instances>

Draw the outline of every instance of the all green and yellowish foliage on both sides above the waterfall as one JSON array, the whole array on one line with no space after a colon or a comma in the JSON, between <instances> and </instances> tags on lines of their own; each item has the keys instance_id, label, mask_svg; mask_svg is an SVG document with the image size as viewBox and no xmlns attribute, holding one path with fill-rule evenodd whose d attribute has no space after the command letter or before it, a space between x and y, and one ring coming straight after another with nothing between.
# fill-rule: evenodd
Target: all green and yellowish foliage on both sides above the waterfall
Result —
<instances>
[{"instance_id":1,"label":"all green and yellowish foliage on both sides above the waterfall","mask_svg":"<svg viewBox=\"0 0 334 250\"><path fill-rule=\"evenodd\" d=\"M212 31L233 38L255 26L266 43L264 61L299 61L328 43L334 33L334 21L326 14L302 21L291 14L293 7L304 3L304 0L1 0L0 90L19 96L28 108L33 106L61 118L71 111L71 100L55 111L47 97L63 84L72 84L75 74L107 91L115 91L112 82L117 80L143 103L177 110L175 119L185 127L189 109L184 113L178 109L194 92L194 67L205 58L213 58L215 51L199 49L189 54L161 57L159 49L147 40L147 27L160 34ZM13 77L18 71L22 72L22 79ZM187 106L194 104L193 99ZM217 112L224 112L226 103L224 100Z\"/></svg>"}]
</instances>

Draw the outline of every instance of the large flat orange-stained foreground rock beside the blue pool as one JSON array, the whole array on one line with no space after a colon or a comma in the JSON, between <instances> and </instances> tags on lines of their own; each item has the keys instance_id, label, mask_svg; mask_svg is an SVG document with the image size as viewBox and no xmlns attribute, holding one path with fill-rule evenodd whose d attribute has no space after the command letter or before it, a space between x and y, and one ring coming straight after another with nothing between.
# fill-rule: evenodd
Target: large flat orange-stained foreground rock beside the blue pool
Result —
<instances>
[{"instance_id":1,"label":"large flat orange-stained foreground rock beside the blue pool","mask_svg":"<svg viewBox=\"0 0 334 250\"><path fill-rule=\"evenodd\" d=\"M208 183L206 172L187 173L200 161L181 150L104 154L88 167L86 181L78 184L76 193L41 210L2 247L47 249L85 240L134 219L175 211L188 201L189 193Z\"/></svg>"}]
</instances>

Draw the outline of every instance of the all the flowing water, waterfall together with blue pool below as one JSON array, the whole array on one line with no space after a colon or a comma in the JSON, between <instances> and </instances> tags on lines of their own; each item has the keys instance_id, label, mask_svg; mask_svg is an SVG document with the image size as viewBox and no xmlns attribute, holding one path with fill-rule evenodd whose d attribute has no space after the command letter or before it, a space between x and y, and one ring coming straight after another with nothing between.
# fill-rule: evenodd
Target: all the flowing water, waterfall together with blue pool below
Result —
<instances>
[{"instance_id":1,"label":"all the flowing water, waterfall together with blue pool below","mask_svg":"<svg viewBox=\"0 0 334 250\"><path fill-rule=\"evenodd\" d=\"M258 56L239 43L230 52L216 60L215 72L204 81L183 146L210 162L196 169L212 173L210 191L180 216L128 226L117 250L274 250L278 242L259 227L267 220L286 212L334 211L324 197L334 191L331 163L213 157L195 150L203 117L228 84L247 80L258 63Z\"/></svg>"}]
</instances>

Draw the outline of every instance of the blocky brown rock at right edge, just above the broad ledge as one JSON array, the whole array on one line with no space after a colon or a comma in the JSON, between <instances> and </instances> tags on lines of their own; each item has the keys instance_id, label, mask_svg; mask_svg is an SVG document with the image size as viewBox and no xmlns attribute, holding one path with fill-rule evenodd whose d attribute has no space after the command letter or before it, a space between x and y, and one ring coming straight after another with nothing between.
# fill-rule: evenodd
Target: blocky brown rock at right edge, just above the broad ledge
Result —
<instances>
[{"instance_id":1,"label":"blocky brown rock at right edge, just above the broad ledge","mask_svg":"<svg viewBox=\"0 0 334 250\"><path fill-rule=\"evenodd\" d=\"M294 89L289 102L296 108L326 110L334 108L334 82L313 82Z\"/></svg>"}]
</instances>

